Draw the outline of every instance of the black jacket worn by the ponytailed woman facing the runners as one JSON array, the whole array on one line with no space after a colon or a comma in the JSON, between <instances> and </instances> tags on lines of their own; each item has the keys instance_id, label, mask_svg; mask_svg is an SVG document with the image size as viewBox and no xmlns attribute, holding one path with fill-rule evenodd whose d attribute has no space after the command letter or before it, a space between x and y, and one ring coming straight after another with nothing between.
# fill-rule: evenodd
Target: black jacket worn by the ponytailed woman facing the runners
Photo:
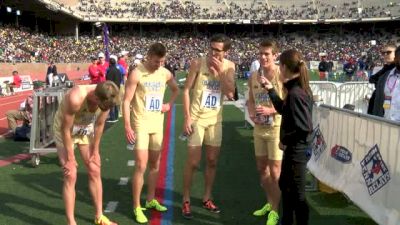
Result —
<instances>
[{"instance_id":1,"label":"black jacket worn by the ponytailed woman facing the runners","mask_svg":"<svg viewBox=\"0 0 400 225\"><path fill-rule=\"evenodd\" d=\"M274 89L269 96L276 111L282 115L280 141L286 145L285 157L295 161L306 160L304 149L311 145L313 100L300 87L298 78L284 84L287 96L282 100Z\"/></svg>"}]
</instances>

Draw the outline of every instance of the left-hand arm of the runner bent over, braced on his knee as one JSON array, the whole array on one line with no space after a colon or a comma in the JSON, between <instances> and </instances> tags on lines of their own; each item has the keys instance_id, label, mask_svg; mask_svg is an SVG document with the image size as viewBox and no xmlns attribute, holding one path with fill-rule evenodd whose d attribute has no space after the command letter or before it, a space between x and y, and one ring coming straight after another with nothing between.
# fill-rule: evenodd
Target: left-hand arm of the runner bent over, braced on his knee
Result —
<instances>
[{"instance_id":1,"label":"left-hand arm of the runner bent over, braced on his knee","mask_svg":"<svg viewBox=\"0 0 400 225\"><path fill-rule=\"evenodd\" d=\"M71 131L74 126L75 114L79 111L83 99L78 86L71 89L71 91L65 95L65 109L62 112L61 135L65 150L67 151L66 164L68 162L76 163Z\"/></svg>"}]
</instances>

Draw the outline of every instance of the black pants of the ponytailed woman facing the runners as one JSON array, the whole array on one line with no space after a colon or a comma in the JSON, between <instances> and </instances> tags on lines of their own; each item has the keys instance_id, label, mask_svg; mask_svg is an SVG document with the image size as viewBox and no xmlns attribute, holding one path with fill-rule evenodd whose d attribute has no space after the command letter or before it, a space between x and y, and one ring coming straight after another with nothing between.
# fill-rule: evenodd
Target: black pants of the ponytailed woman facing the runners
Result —
<instances>
[{"instance_id":1,"label":"black pants of the ponytailed woman facing the runners","mask_svg":"<svg viewBox=\"0 0 400 225\"><path fill-rule=\"evenodd\" d=\"M301 160L304 161L304 160ZM293 213L297 225L307 225L309 209L305 196L307 162L283 158L279 187L282 191L282 225L293 225Z\"/></svg>"}]
</instances>

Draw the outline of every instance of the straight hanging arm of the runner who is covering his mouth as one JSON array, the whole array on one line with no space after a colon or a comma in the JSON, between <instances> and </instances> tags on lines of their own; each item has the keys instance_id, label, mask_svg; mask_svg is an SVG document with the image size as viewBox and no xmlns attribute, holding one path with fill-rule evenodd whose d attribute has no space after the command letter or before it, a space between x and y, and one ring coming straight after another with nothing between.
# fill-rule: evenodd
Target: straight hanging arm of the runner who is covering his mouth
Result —
<instances>
[{"instance_id":1,"label":"straight hanging arm of the runner who is covering his mouth","mask_svg":"<svg viewBox=\"0 0 400 225\"><path fill-rule=\"evenodd\" d=\"M189 74L186 77L185 86L183 87L183 115L185 117L183 131L187 134L192 133L192 119L190 117L190 89L196 81L197 74L200 70L200 59L194 59L190 63Z\"/></svg>"}]
</instances>

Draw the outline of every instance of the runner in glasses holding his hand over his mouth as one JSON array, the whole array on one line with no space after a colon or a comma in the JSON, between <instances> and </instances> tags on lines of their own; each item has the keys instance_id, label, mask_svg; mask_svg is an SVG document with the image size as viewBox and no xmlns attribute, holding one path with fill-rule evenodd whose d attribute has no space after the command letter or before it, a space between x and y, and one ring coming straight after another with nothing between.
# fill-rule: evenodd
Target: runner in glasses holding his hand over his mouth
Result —
<instances>
[{"instance_id":1,"label":"runner in glasses holding his hand over his mouth","mask_svg":"<svg viewBox=\"0 0 400 225\"><path fill-rule=\"evenodd\" d=\"M223 98L233 99L235 92L235 64L225 59L230 46L231 41L225 35L211 37L207 56L191 62L183 90L183 130L189 138L183 175L182 216L187 219L192 218L190 188L203 144L206 153L203 207L213 213L220 212L211 199L211 192L222 140Z\"/></svg>"}]
</instances>

